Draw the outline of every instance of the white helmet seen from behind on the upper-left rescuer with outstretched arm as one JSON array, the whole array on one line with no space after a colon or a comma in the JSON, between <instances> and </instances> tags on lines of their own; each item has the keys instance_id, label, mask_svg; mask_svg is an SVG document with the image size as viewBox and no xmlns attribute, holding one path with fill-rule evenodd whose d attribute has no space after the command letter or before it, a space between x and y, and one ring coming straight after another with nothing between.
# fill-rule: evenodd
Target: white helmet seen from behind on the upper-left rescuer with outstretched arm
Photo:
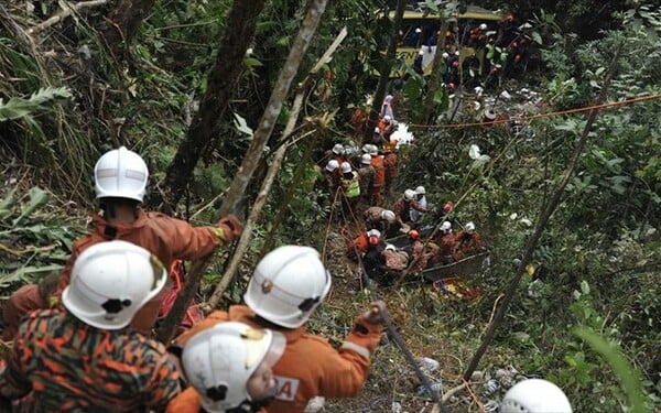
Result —
<instances>
[{"instance_id":1,"label":"white helmet seen from behind on the upper-left rescuer with outstretched arm","mask_svg":"<svg viewBox=\"0 0 661 413\"><path fill-rule=\"evenodd\" d=\"M94 166L97 198L129 198L142 202L147 189L147 164L133 151L120 146L106 152Z\"/></svg>"}]
</instances>

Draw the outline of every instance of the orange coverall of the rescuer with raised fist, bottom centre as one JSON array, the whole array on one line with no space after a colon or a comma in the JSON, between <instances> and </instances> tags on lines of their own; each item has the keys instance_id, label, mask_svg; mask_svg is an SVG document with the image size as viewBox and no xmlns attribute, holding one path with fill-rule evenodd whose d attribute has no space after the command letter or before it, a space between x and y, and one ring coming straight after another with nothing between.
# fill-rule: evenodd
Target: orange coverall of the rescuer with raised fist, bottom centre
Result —
<instances>
[{"instance_id":1,"label":"orange coverall of the rescuer with raised fist, bottom centre","mask_svg":"<svg viewBox=\"0 0 661 413\"><path fill-rule=\"evenodd\" d=\"M204 322L176 338L175 344L184 346L196 333L227 320L256 328L267 327L259 324L249 307L232 305L228 312L209 314ZM381 326L364 323L361 316L354 322L354 328L339 350L325 338L307 334L307 324L293 329L273 325L268 328L282 333L286 338L284 354L273 367L278 393L275 401L267 407L269 413L302 413L307 401L315 395L356 395L367 379L371 354L381 337Z\"/></svg>"}]
</instances>

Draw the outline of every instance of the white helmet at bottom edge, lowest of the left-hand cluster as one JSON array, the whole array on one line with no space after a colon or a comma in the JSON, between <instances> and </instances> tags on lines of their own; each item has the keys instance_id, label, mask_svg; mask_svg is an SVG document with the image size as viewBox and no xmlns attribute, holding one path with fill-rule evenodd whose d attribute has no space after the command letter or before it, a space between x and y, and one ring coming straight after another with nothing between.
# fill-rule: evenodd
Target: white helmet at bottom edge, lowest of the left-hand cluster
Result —
<instances>
[{"instance_id":1,"label":"white helmet at bottom edge, lowest of the left-hand cluster","mask_svg":"<svg viewBox=\"0 0 661 413\"><path fill-rule=\"evenodd\" d=\"M262 362L272 367L285 346L281 333L237 322L218 323L188 339L181 361L202 406L219 413L252 401L248 391L251 376Z\"/></svg>"}]
</instances>

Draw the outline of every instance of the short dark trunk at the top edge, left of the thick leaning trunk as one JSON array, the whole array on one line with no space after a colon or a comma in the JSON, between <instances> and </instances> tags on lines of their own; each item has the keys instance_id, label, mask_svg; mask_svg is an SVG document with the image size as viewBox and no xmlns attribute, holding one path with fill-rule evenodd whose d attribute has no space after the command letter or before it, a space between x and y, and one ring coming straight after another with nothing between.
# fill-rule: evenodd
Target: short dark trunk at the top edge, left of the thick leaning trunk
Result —
<instances>
[{"instance_id":1,"label":"short dark trunk at the top edge, left of the thick leaning trunk","mask_svg":"<svg viewBox=\"0 0 661 413\"><path fill-rule=\"evenodd\" d=\"M142 20L154 7L155 0L120 0L110 14L102 32L106 44L112 56L121 62L126 58L126 50L138 33Z\"/></svg>"}]
</instances>

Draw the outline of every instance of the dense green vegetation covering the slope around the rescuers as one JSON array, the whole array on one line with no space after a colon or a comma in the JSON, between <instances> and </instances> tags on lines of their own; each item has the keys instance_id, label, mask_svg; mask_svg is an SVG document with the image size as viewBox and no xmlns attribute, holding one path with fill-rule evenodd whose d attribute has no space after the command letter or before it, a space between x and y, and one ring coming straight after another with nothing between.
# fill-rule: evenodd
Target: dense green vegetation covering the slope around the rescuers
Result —
<instances>
[{"instance_id":1,"label":"dense green vegetation covering the slope around the rescuers","mask_svg":"<svg viewBox=\"0 0 661 413\"><path fill-rule=\"evenodd\" d=\"M343 26L349 34L307 84L294 131L301 139L288 148L242 260L247 275L262 249L273 244L301 242L326 251L338 292L313 327L334 340L342 339L356 305L367 304L368 297L360 294L356 268L345 261L343 239L336 230L318 230L325 228L328 203L315 182L314 159L333 142L350 141L348 106L362 105L373 93L373 68L383 64L382 52L393 33L392 23L379 19L377 10L395 4L383 3L337 0L326 8L296 81ZM448 387L460 384L514 275L513 261L521 259L584 133L586 113L571 109L594 105L603 90L606 102L655 97L602 108L596 115L576 171L534 246L535 271L521 280L480 369L514 366L524 374L546 377L565 390L577 412L659 411L661 13L653 1L606 2L598 10L582 0L488 3L517 12L532 25L531 39L541 41L528 73L503 87L539 91L541 102L520 108L529 110L522 115L544 116L517 129L445 128L451 116L447 94L441 91L435 124L410 128L415 140L402 148L398 188L423 184L436 205L460 199L452 218L476 221L491 250L490 271L474 280L483 297L452 301L426 285L379 294L411 349L440 359ZM264 2L250 52L241 52L240 76L227 85L231 98L223 102L192 178L174 188L184 195L176 199L175 214L193 222L210 220L249 149L306 4ZM105 17L121 22L122 8L140 21L126 21L126 39L117 40ZM104 151L127 144L144 154L152 171L150 206L166 206L173 188L159 184L165 182L175 153L185 150L180 144L199 121L196 110L205 105L205 94L218 87L209 70L223 61L218 53L231 52L220 42L225 31L239 31L231 25L241 24L227 20L231 8L229 0L123 0L79 8L53 22L47 19L62 13L61 2L0 6L3 295L64 262L94 208L90 171ZM608 73L614 76L606 81ZM422 84L411 76L388 85L402 119L418 117ZM292 102L285 101L241 203L243 215L291 110ZM474 117L462 110L452 121L469 123ZM470 144L478 144L489 160L472 159ZM205 275L202 298L221 273L225 260L216 261ZM533 284L533 279L541 282ZM240 300L242 286L242 280L234 283L223 305ZM346 296L356 300L345 302ZM604 343L606 350L600 350ZM622 355L624 367L618 363ZM380 350L375 362L361 398L333 404L330 411L366 409L370 399L398 400L411 410L424 403L414 385L399 380L410 372L394 346ZM478 393L480 384L474 384ZM474 402L460 396L452 401L453 411L478 411ZM389 411L387 404L373 409Z\"/></svg>"}]
</instances>

